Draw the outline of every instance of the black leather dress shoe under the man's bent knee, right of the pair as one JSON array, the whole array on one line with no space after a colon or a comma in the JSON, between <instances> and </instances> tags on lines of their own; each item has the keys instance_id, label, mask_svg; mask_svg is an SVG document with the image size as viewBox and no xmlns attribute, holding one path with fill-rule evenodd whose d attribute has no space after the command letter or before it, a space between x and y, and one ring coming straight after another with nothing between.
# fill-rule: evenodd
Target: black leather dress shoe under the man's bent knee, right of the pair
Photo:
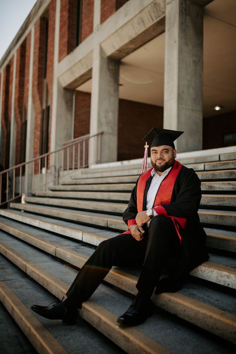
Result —
<instances>
[{"instance_id":1,"label":"black leather dress shoe under the man's bent knee, right of the pair","mask_svg":"<svg viewBox=\"0 0 236 354\"><path fill-rule=\"evenodd\" d=\"M136 326L153 314L153 305L149 297L137 295L128 310L118 318L122 325Z\"/></svg>"}]
</instances>

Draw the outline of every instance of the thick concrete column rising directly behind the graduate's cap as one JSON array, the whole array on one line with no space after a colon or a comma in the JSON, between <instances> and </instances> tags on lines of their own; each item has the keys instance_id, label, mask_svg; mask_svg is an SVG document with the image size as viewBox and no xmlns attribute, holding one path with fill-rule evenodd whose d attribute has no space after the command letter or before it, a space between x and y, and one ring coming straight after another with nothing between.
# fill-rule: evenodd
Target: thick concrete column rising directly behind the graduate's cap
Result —
<instances>
[{"instance_id":1,"label":"thick concrete column rising directly behind the graduate's cap","mask_svg":"<svg viewBox=\"0 0 236 354\"><path fill-rule=\"evenodd\" d=\"M179 152L202 149L203 7L166 0L164 128L183 130Z\"/></svg>"}]
</instances>

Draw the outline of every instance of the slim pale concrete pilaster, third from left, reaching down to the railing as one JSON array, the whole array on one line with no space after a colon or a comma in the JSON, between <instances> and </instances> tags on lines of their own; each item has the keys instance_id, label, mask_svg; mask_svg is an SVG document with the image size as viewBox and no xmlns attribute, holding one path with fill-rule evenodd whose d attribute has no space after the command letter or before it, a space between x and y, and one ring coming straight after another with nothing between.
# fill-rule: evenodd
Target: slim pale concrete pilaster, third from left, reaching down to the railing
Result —
<instances>
[{"instance_id":1,"label":"slim pale concrete pilaster, third from left, reaching down to the railing","mask_svg":"<svg viewBox=\"0 0 236 354\"><path fill-rule=\"evenodd\" d=\"M25 161L29 161L33 158L34 118L35 118L34 106L32 102L33 52L34 52L34 27L32 27L31 29L31 37L30 37L29 87L28 87L28 105L27 105Z\"/></svg>"}]
</instances>

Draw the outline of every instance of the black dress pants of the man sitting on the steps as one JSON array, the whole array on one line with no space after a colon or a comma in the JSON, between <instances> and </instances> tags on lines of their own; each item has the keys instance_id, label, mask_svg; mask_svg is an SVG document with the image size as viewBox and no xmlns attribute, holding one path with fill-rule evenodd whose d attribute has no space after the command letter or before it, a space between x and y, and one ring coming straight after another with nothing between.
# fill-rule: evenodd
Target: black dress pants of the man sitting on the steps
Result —
<instances>
[{"instance_id":1,"label":"black dress pants of the man sitting on the steps","mask_svg":"<svg viewBox=\"0 0 236 354\"><path fill-rule=\"evenodd\" d=\"M172 220L164 216L152 218L141 241L130 234L121 234L102 241L83 265L67 292L67 308L81 308L90 298L113 265L141 265L137 289L151 296L163 265L180 257L181 245Z\"/></svg>"}]
</instances>

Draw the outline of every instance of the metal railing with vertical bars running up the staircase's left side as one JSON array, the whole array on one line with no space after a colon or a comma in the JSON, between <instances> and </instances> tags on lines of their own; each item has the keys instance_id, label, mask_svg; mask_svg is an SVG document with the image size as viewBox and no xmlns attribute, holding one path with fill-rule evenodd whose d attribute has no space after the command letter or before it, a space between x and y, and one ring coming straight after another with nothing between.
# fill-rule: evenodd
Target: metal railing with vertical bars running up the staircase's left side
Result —
<instances>
[{"instance_id":1,"label":"metal railing with vertical bars running up the staircase's left side","mask_svg":"<svg viewBox=\"0 0 236 354\"><path fill-rule=\"evenodd\" d=\"M93 163L101 162L103 133L85 135L52 152L0 172L0 206L32 191L47 190L49 184L58 184L59 178L76 169L89 166L89 145L93 139L97 156ZM23 202L23 199L22 201Z\"/></svg>"}]
</instances>

